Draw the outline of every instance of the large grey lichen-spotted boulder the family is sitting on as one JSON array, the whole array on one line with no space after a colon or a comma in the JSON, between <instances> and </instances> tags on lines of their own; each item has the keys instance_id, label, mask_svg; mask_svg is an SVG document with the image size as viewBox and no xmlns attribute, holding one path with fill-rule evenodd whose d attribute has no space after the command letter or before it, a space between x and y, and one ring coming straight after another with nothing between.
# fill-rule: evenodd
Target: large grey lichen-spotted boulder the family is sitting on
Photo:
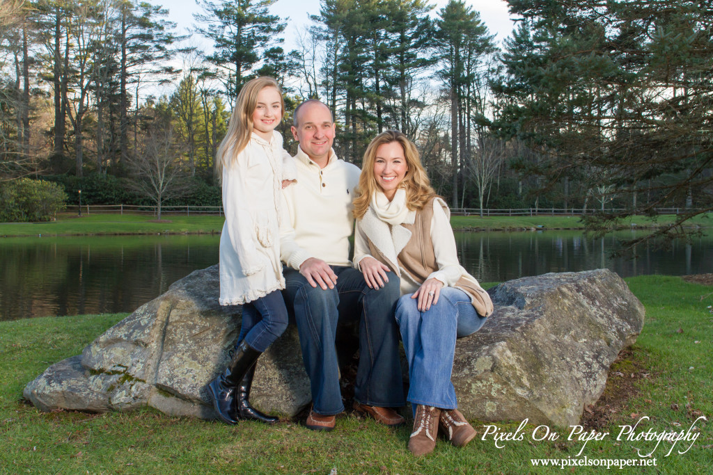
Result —
<instances>
[{"instance_id":1,"label":"large grey lichen-spotted boulder the family is sitting on","mask_svg":"<svg viewBox=\"0 0 713 475\"><path fill-rule=\"evenodd\" d=\"M612 361L643 325L641 303L606 270L520 278L490 293L495 313L456 344L453 383L469 418L578 422L584 405L604 390ZM205 385L224 367L240 330L240 308L221 307L217 295L217 266L191 273L81 356L49 367L24 396L42 410L150 406L215 417ZM344 329L338 347L349 347L354 332ZM285 416L309 404L294 325L258 360L250 400Z\"/></svg>"}]
</instances>

